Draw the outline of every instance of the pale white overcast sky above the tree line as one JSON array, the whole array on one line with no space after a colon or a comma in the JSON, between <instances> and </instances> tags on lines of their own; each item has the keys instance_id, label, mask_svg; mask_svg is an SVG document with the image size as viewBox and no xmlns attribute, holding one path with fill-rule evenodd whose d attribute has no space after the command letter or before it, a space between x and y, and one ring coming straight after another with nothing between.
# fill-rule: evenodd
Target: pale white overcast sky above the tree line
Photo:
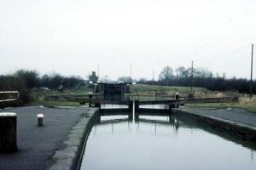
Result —
<instances>
[{"instance_id":1,"label":"pale white overcast sky above the tree line","mask_svg":"<svg viewBox=\"0 0 256 170\"><path fill-rule=\"evenodd\" d=\"M0 0L0 74L85 77L100 65L116 78L132 62L132 77L151 78L194 60L248 78L253 42L255 0Z\"/></svg>"}]
</instances>

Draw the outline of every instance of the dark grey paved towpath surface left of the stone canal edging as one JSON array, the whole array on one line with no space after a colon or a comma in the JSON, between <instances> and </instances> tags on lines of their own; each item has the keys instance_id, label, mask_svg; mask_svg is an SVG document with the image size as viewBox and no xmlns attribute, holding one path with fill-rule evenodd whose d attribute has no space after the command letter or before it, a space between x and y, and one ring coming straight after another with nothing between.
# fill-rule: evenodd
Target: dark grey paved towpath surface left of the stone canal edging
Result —
<instances>
[{"instance_id":1,"label":"dark grey paved towpath surface left of the stone canal edging","mask_svg":"<svg viewBox=\"0 0 256 170\"><path fill-rule=\"evenodd\" d=\"M88 108L27 106L5 111L17 114L18 151L0 154L0 169L43 170L46 169L49 157L54 155L61 141L67 139L70 129L79 122L81 115L88 111ZM44 127L37 126L38 113L44 113Z\"/></svg>"}]
</instances>

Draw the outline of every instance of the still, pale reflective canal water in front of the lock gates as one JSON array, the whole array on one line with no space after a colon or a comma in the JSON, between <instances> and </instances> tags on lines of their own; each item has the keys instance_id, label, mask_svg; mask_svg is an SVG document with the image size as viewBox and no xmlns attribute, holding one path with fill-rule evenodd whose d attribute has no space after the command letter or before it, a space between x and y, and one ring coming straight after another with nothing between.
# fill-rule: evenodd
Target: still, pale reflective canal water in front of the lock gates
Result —
<instances>
[{"instance_id":1,"label":"still, pale reflective canal water in front of the lock gates","mask_svg":"<svg viewBox=\"0 0 256 170\"><path fill-rule=\"evenodd\" d=\"M252 170L256 151L253 143L182 116L101 116L80 169Z\"/></svg>"}]
</instances>

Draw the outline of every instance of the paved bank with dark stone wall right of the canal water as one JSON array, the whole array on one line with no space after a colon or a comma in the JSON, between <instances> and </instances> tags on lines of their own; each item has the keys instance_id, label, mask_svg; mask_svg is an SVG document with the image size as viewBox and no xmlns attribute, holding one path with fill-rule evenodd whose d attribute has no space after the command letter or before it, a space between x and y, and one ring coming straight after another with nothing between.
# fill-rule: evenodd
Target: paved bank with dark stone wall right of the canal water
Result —
<instances>
[{"instance_id":1,"label":"paved bank with dark stone wall right of the canal water","mask_svg":"<svg viewBox=\"0 0 256 170\"><path fill-rule=\"evenodd\" d=\"M183 109L172 110L177 115L189 117L196 122L220 128L231 134L256 141L256 114L241 109Z\"/></svg>"}]
</instances>

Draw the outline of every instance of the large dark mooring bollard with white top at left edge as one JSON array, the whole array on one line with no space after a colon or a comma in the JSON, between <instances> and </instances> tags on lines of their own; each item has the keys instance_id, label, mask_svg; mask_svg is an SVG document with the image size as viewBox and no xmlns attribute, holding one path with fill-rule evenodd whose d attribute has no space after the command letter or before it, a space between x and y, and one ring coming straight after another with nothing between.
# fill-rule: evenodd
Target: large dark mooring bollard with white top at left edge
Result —
<instances>
[{"instance_id":1,"label":"large dark mooring bollard with white top at left edge","mask_svg":"<svg viewBox=\"0 0 256 170\"><path fill-rule=\"evenodd\" d=\"M17 150L17 116L16 113L0 113L0 152Z\"/></svg>"}]
</instances>

